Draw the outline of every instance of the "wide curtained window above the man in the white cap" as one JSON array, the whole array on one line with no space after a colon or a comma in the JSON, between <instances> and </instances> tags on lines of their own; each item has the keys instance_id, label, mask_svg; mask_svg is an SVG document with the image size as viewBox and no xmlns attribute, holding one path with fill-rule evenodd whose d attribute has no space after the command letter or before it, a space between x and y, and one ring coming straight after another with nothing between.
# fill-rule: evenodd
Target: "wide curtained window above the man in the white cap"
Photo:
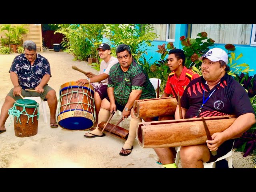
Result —
<instances>
[{"instance_id":1,"label":"wide curtained window above the man in the white cap","mask_svg":"<svg viewBox=\"0 0 256 192\"><path fill-rule=\"evenodd\" d=\"M252 24L192 24L191 38L198 38L200 32L206 32L215 44L250 45Z\"/></svg>"}]
</instances>

